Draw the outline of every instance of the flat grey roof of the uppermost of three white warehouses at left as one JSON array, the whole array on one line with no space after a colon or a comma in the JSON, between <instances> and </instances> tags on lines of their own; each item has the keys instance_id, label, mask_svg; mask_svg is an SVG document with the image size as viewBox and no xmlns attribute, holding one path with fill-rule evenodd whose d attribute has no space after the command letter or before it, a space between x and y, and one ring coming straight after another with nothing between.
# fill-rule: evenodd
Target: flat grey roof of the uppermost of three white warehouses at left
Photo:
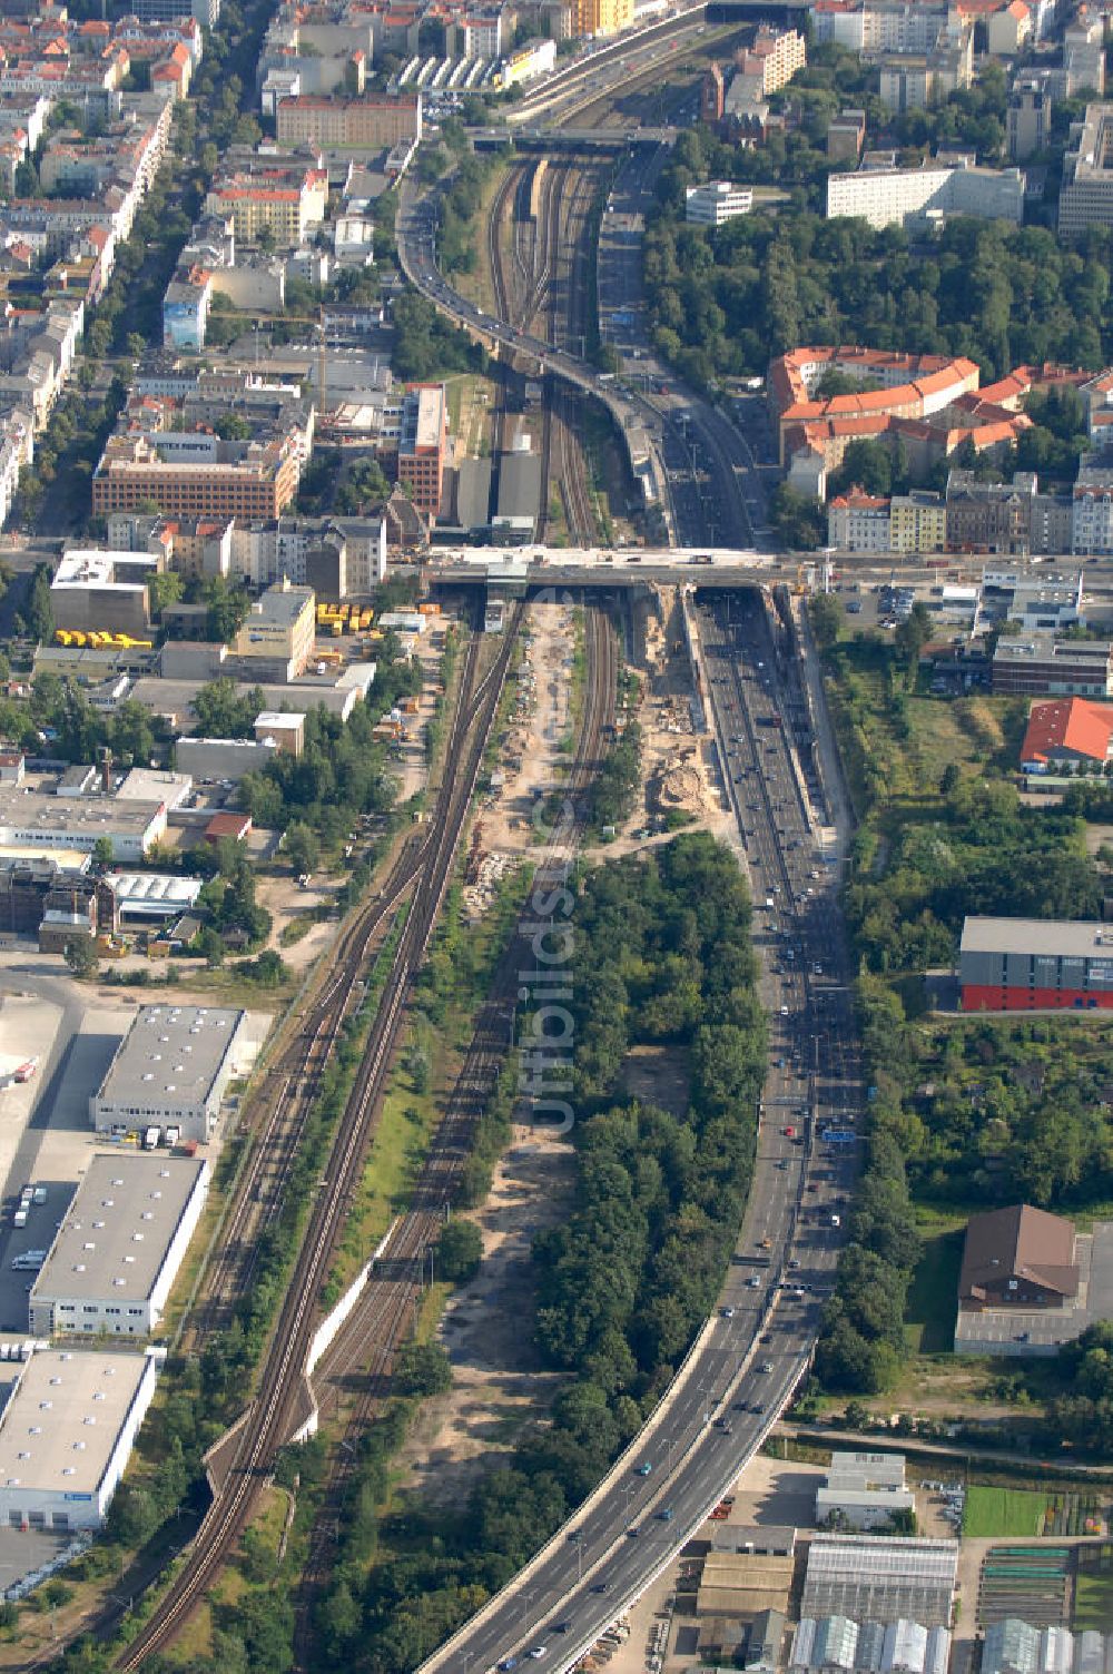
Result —
<instances>
[{"instance_id":1,"label":"flat grey roof of the uppermost of three white warehouses at left","mask_svg":"<svg viewBox=\"0 0 1113 1674\"><path fill-rule=\"evenodd\" d=\"M233 1009L142 1006L97 1098L139 1108L204 1103L241 1021L243 1011Z\"/></svg>"}]
</instances>

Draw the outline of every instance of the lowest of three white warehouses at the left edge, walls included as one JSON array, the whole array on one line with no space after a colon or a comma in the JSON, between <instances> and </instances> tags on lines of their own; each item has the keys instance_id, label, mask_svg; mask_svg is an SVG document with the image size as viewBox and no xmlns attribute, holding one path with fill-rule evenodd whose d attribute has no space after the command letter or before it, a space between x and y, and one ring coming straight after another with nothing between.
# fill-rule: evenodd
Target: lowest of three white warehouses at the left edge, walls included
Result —
<instances>
[{"instance_id":1,"label":"lowest of three white warehouses at the left edge, walls included","mask_svg":"<svg viewBox=\"0 0 1113 1674\"><path fill-rule=\"evenodd\" d=\"M32 1354L0 1415L0 1527L102 1525L162 1361L162 1349Z\"/></svg>"}]
</instances>

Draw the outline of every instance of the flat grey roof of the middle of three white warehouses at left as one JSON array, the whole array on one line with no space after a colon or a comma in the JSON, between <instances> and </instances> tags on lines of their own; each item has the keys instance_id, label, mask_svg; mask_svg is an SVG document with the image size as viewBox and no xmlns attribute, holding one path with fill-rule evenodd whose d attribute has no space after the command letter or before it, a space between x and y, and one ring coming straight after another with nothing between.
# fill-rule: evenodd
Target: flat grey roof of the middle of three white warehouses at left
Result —
<instances>
[{"instance_id":1,"label":"flat grey roof of the middle of three white warehouses at left","mask_svg":"<svg viewBox=\"0 0 1113 1674\"><path fill-rule=\"evenodd\" d=\"M35 1276L32 1306L55 1297L146 1302L204 1168L203 1157L97 1153Z\"/></svg>"}]
</instances>

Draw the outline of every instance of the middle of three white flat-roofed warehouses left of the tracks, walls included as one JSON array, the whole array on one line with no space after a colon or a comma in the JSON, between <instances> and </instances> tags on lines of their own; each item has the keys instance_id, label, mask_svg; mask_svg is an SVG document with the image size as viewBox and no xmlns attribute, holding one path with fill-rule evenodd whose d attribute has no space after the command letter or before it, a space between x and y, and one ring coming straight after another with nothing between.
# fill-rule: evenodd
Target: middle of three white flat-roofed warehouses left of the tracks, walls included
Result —
<instances>
[{"instance_id":1,"label":"middle of three white flat-roofed warehouses left of the tracks, walls included","mask_svg":"<svg viewBox=\"0 0 1113 1674\"><path fill-rule=\"evenodd\" d=\"M206 1158L94 1157L35 1276L32 1334L151 1336L208 1189Z\"/></svg>"}]
</instances>

